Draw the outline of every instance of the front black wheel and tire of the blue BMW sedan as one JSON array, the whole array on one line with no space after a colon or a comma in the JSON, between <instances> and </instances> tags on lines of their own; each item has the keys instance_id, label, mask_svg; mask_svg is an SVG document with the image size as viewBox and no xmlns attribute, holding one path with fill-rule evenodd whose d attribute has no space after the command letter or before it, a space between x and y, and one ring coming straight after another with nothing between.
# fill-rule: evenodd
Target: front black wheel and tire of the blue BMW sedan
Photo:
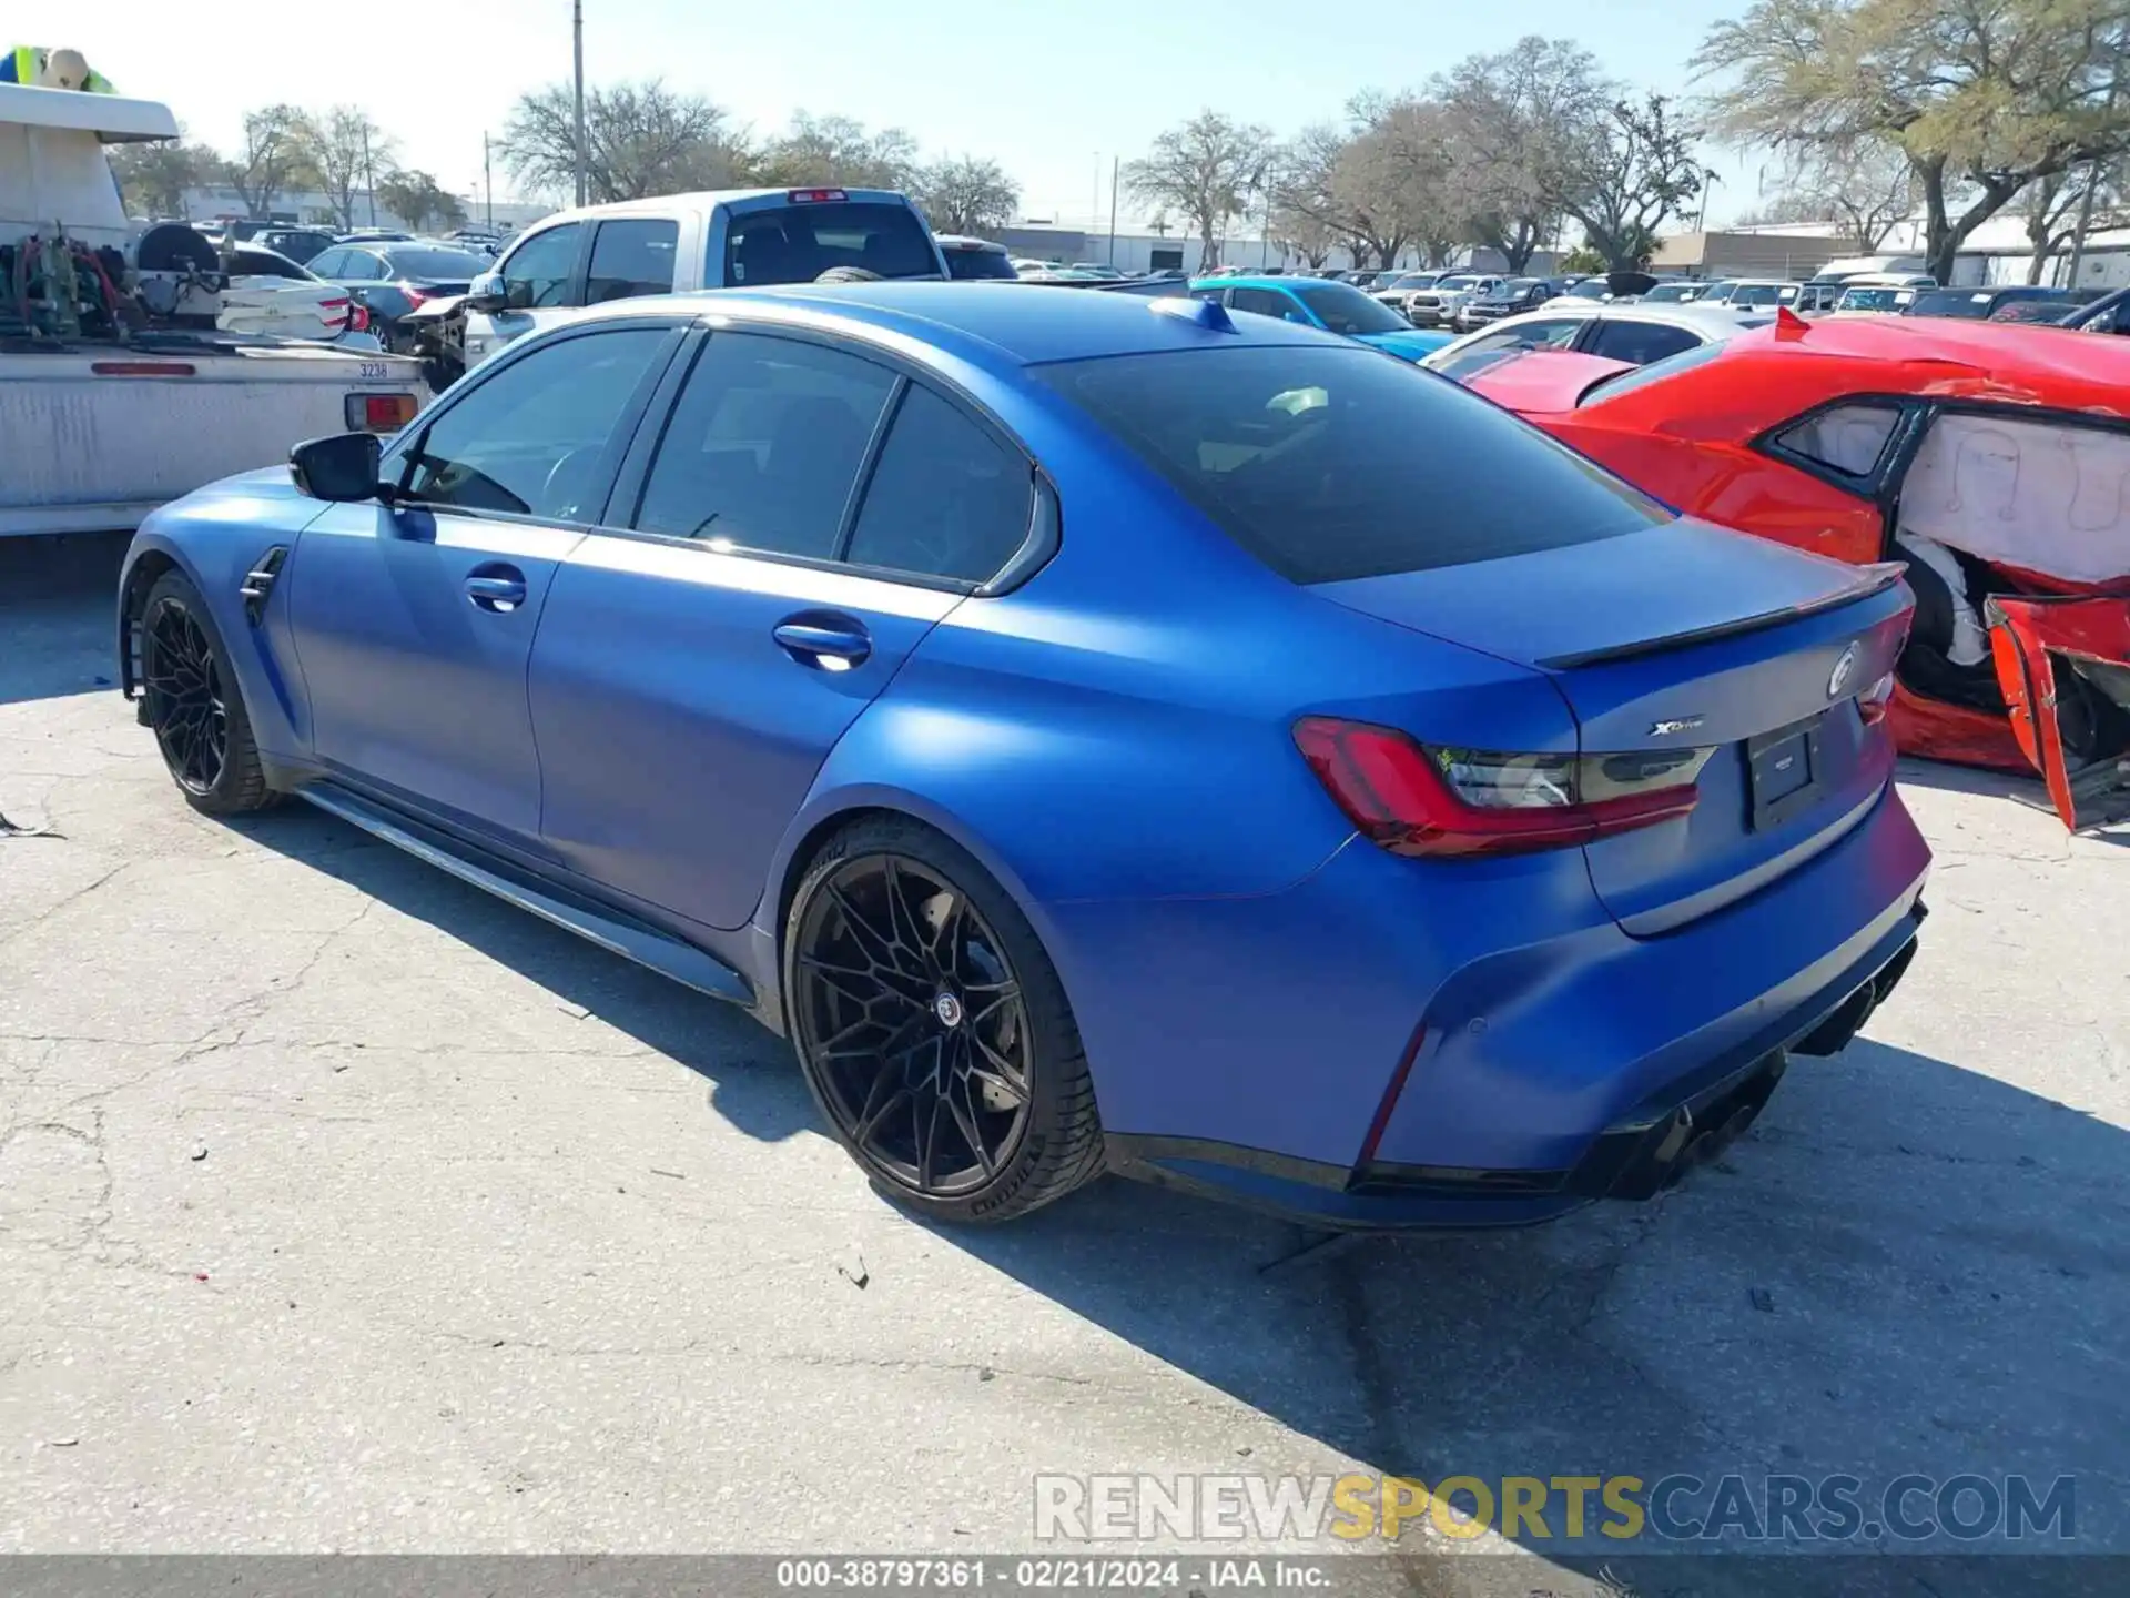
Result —
<instances>
[{"instance_id":1,"label":"front black wheel and tire of the blue BMW sedan","mask_svg":"<svg viewBox=\"0 0 2130 1598\"><path fill-rule=\"evenodd\" d=\"M141 605L143 720L185 803L207 816L264 810L266 786L251 716L215 618L181 571L166 571Z\"/></svg>"}]
</instances>

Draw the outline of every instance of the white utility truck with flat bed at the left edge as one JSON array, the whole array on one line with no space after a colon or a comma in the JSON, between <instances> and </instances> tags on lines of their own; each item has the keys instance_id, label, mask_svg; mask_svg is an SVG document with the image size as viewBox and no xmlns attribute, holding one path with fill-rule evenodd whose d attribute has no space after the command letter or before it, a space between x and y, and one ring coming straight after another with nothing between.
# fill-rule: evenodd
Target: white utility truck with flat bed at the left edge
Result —
<instances>
[{"instance_id":1,"label":"white utility truck with flat bed at the left edge","mask_svg":"<svg viewBox=\"0 0 2130 1598\"><path fill-rule=\"evenodd\" d=\"M204 243L136 256L104 145L177 134L153 100L0 83L0 537L130 528L426 398L403 356L215 332Z\"/></svg>"}]
</instances>

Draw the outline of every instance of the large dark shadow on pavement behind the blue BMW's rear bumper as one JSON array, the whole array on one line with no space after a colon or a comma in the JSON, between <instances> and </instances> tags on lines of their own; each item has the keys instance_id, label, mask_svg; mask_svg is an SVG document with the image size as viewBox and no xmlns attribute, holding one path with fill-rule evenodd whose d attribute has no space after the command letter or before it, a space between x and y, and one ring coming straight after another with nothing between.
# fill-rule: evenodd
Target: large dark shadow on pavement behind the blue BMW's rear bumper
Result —
<instances>
[{"instance_id":1,"label":"large dark shadow on pavement behind the blue BMW's rear bumper","mask_svg":"<svg viewBox=\"0 0 2130 1598\"><path fill-rule=\"evenodd\" d=\"M2079 1549L2130 1551L2124 1170L2104 1121L1859 1040L1659 1202L1546 1227L1329 1240L1110 1180L939 1236L1370 1472L2072 1474Z\"/></svg>"}]
</instances>

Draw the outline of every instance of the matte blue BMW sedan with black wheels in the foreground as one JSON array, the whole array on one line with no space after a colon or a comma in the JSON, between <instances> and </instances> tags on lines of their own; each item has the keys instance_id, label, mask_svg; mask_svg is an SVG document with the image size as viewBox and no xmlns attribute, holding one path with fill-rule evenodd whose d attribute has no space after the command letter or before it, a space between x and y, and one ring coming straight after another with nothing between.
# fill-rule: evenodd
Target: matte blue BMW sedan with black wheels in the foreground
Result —
<instances>
[{"instance_id":1,"label":"matte blue BMW sedan with black wheels in the foreground","mask_svg":"<svg viewBox=\"0 0 2130 1598\"><path fill-rule=\"evenodd\" d=\"M185 799L302 799L790 1038L888 1195L1659 1191L1898 982L1911 601L1195 298L603 307L147 520Z\"/></svg>"}]
</instances>

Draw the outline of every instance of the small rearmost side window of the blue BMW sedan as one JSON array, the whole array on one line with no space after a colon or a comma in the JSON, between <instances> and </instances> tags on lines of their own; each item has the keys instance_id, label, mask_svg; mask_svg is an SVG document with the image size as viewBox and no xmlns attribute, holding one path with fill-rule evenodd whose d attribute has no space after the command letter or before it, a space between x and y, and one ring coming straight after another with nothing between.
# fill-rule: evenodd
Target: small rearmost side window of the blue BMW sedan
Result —
<instances>
[{"instance_id":1,"label":"small rearmost side window of the blue BMW sedan","mask_svg":"<svg viewBox=\"0 0 2130 1598\"><path fill-rule=\"evenodd\" d=\"M1027 541L1033 492L1027 456L912 384L873 467L846 558L984 582Z\"/></svg>"}]
</instances>

